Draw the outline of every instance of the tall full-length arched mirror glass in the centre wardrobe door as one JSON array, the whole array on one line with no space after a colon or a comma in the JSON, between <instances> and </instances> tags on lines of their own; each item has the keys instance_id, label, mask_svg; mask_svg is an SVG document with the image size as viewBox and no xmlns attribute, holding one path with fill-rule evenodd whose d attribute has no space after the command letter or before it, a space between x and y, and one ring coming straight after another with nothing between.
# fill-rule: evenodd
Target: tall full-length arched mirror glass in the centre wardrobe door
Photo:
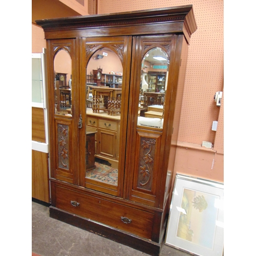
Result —
<instances>
[{"instance_id":1,"label":"tall full-length arched mirror glass in the centre wardrobe door","mask_svg":"<svg viewBox=\"0 0 256 256\"><path fill-rule=\"evenodd\" d=\"M87 65L87 184L118 184L122 72L121 60L109 48L97 50Z\"/></svg>"}]
</instances>

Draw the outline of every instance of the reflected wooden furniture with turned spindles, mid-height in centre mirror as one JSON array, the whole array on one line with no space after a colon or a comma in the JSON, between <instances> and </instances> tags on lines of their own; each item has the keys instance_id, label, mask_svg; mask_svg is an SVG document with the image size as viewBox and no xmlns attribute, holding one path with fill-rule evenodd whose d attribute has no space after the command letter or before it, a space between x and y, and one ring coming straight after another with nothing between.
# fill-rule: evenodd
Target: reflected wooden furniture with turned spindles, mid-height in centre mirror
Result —
<instances>
[{"instance_id":1,"label":"reflected wooden furniture with turned spindles, mid-height in centre mirror","mask_svg":"<svg viewBox=\"0 0 256 256\"><path fill-rule=\"evenodd\" d=\"M109 115L115 115L121 112L121 88L93 87L92 90L93 113L100 113L101 110L108 112Z\"/></svg>"}]
</instances>

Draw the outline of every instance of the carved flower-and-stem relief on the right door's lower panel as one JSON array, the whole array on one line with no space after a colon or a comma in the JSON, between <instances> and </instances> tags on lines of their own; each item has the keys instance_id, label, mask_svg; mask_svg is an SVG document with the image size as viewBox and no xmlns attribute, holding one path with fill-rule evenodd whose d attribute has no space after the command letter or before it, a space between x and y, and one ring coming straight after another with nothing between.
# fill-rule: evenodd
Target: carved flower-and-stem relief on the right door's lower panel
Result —
<instances>
[{"instance_id":1,"label":"carved flower-and-stem relief on the right door's lower panel","mask_svg":"<svg viewBox=\"0 0 256 256\"><path fill-rule=\"evenodd\" d=\"M141 146L143 150L146 150L147 152L143 156L143 160L145 161L145 164L143 166L140 166L140 174L142 175L143 179L147 178L147 180L144 183L140 182L141 186L145 186L151 179L151 169L148 164L154 163L154 159L150 155L153 144L156 144L156 140L153 140L153 139L150 141L142 140Z\"/></svg>"}]
</instances>

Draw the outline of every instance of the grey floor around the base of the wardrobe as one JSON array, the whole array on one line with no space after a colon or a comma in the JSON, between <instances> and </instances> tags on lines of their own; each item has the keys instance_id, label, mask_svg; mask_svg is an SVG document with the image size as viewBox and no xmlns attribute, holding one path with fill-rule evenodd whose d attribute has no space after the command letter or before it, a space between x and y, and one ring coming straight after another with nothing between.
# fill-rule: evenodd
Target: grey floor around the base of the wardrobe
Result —
<instances>
[{"instance_id":1,"label":"grey floor around the base of the wardrobe","mask_svg":"<svg viewBox=\"0 0 256 256\"><path fill-rule=\"evenodd\" d=\"M41 256L147 256L97 234L49 217L47 206L32 202L32 252ZM163 245L160 256L190 254Z\"/></svg>"}]
</instances>

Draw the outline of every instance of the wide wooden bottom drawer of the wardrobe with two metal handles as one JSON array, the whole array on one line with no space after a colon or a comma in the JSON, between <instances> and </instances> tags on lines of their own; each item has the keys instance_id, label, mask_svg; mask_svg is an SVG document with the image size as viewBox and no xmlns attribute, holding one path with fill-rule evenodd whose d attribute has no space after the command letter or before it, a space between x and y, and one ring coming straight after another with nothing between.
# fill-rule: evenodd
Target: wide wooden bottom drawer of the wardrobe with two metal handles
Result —
<instances>
[{"instance_id":1,"label":"wide wooden bottom drawer of the wardrobe with two metal handles","mask_svg":"<svg viewBox=\"0 0 256 256\"><path fill-rule=\"evenodd\" d=\"M154 214L55 186L56 207L151 239ZM72 205L73 204L73 205Z\"/></svg>"}]
</instances>

